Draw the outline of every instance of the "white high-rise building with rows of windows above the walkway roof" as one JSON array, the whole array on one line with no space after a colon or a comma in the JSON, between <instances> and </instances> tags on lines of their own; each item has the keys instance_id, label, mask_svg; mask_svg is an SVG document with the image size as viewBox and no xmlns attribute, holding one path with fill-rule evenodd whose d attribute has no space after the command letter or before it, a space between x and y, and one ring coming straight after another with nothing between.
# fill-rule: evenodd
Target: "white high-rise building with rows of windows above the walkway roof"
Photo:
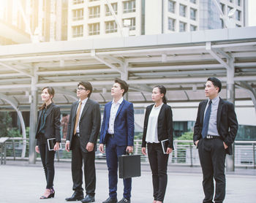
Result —
<instances>
[{"instance_id":1,"label":"white high-rise building with rows of windows above the walkway roof","mask_svg":"<svg viewBox=\"0 0 256 203\"><path fill-rule=\"evenodd\" d=\"M217 0L223 15L236 9L239 27L246 26L246 2ZM214 0L70 0L68 40L124 36L127 25L129 36L224 28L217 4Z\"/></svg>"}]
</instances>

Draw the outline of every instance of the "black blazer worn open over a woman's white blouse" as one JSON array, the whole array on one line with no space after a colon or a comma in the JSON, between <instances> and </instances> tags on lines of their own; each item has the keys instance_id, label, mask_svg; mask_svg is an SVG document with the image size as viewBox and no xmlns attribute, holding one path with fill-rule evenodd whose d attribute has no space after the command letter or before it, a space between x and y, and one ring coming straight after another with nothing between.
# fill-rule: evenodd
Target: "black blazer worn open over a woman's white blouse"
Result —
<instances>
[{"instance_id":1,"label":"black blazer worn open over a woman's white blouse","mask_svg":"<svg viewBox=\"0 0 256 203\"><path fill-rule=\"evenodd\" d=\"M146 147L146 133L148 129L148 117L154 104L146 107L146 114L144 119L142 148ZM157 137L161 142L164 139L169 139L168 148L173 148L173 112L170 106L163 104L158 115L157 121Z\"/></svg>"}]
</instances>

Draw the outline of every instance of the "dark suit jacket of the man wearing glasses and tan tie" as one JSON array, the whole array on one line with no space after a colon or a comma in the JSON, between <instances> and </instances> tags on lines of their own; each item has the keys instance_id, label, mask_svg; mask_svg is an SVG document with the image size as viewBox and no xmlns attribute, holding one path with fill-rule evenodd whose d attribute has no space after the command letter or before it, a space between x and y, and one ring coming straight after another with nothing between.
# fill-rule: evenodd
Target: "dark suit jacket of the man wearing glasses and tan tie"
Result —
<instances>
[{"instance_id":1,"label":"dark suit jacket of the man wearing glasses and tan tie","mask_svg":"<svg viewBox=\"0 0 256 203\"><path fill-rule=\"evenodd\" d=\"M72 135L75 127L76 112L79 102L72 104L67 127L67 140L70 141L70 150L72 150ZM94 150L97 148L97 139L100 129L100 110L99 103L88 99L79 120L80 148L87 152L86 145L88 142L94 143Z\"/></svg>"}]
</instances>

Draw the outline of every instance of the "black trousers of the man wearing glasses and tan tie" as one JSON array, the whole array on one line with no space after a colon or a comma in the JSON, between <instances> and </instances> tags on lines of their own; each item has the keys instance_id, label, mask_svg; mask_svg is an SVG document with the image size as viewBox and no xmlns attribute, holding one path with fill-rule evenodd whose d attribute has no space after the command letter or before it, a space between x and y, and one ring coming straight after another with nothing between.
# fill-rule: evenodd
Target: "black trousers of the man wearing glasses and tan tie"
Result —
<instances>
[{"instance_id":1,"label":"black trousers of the man wearing glasses and tan tie","mask_svg":"<svg viewBox=\"0 0 256 203\"><path fill-rule=\"evenodd\" d=\"M84 165L84 166L83 166ZM82 170L83 167L83 170ZM80 149L80 138L72 140L72 180L73 190L83 191L83 172L86 183L86 194L94 196L96 186L95 152L85 153Z\"/></svg>"}]
</instances>

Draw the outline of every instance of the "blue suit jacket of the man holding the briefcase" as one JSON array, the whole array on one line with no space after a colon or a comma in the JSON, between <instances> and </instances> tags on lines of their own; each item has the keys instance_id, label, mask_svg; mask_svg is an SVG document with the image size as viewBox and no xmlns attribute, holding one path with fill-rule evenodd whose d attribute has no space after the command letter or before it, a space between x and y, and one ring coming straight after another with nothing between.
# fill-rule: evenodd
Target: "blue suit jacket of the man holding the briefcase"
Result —
<instances>
[{"instance_id":1,"label":"blue suit jacket of the man holding the briefcase","mask_svg":"<svg viewBox=\"0 0 256 203\"><path fill-rule=\"evenodd\" d=\"M112 102L105 104L103 115L102 129L100 131L99 143L105 144L108 141L108 124L110 119L110 110ZM133 104L123 100L118 111L114 123L114 139L118 146L133 146L134 140L134 110Z\"/></svg>"}]
</instances>

